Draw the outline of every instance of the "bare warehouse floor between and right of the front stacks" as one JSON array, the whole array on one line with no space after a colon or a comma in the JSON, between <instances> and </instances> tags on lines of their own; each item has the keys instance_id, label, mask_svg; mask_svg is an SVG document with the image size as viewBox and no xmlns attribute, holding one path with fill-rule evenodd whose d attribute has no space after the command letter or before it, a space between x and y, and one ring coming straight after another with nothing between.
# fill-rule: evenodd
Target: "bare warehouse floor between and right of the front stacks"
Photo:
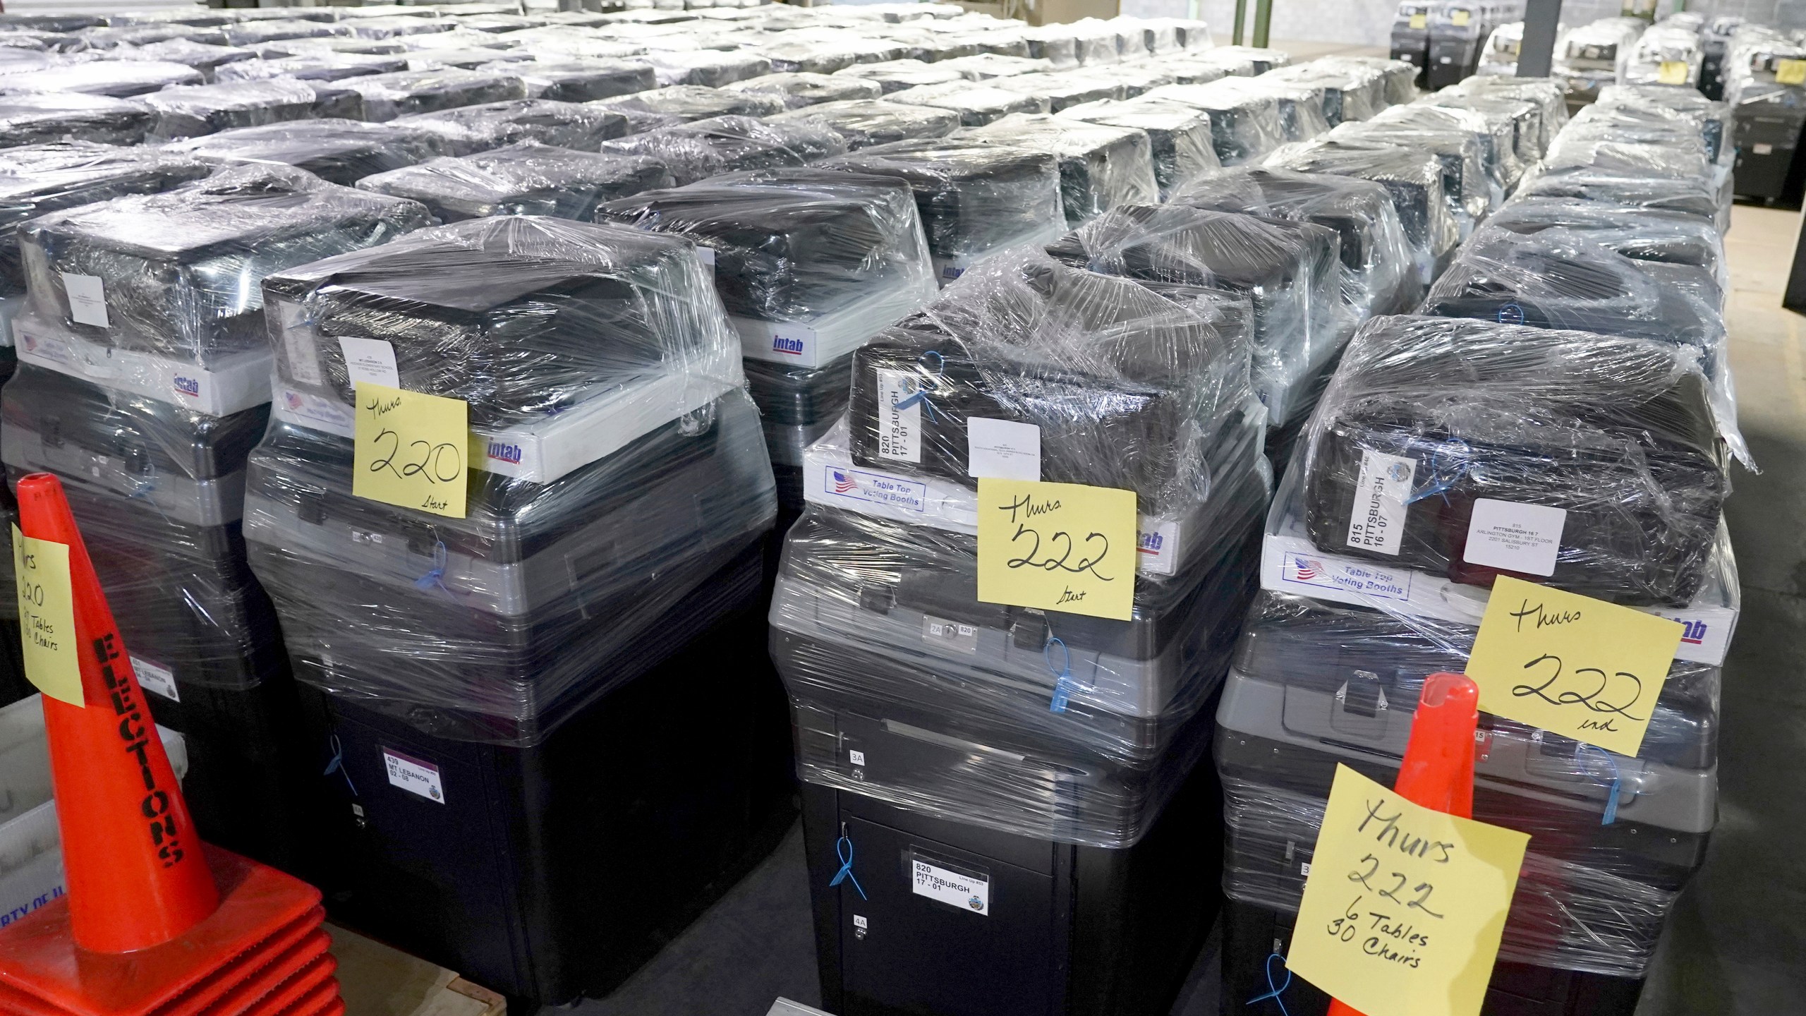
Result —
<instances>
[{"instance_id":1,"label":"bare warehouse floor between and right of the front stacks","mask_svg":"<svg viewBox=\"0 0 1806 1016\"><path fill-rule=\"evenodd\" d=\"M1719 824L1674 909L1638 1016L1797 1012L1806 998L1806 318L1781 309L1801 215L1739 206L1728 325L1743 434L1763 474L1728 506L1743 618L1725 665ZM802 833L583 1016L764 1016L820 1002ZM1174 1016L1217 1011L1214 944Z\"/></svg>"}]
</instances>

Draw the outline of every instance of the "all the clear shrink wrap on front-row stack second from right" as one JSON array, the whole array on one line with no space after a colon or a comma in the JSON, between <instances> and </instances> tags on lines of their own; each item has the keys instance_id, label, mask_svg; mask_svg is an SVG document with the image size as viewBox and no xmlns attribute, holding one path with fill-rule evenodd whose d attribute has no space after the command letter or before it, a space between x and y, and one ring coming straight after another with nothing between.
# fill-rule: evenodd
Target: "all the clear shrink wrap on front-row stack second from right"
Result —
<instances>
[{"instance_id":1,"label":"all the clear shrink wrap on front-row stack second from right","mask_svg":"<svg viewBox=\"0 0 1806 1016\"><path fill-rule=\"evenodd\" d=\"M802 777L1019 835L1136 842L1206 748L1199 712L1250 589L1243 550L1270 474L1244 342L1187 304L1019 251L861 349L851 447L829 434L809 456L849 461L854 486L925 477L934 510L905 522L811 488L820 503L789 532L771 647ZM937 407L921 463L865 457L872 389L896 374ZM1165 389L1181 416L1131 407L1131 389ZM977 602L972 479L946 459L964 457L952 439L968 410L1038 421L1046 479L1132 484L1122 466L1138 456L1168 481L1210 474L1174 488L1188 550L1170 579L1143 571L1132 620Z\"/></svg>"}]
</instances>

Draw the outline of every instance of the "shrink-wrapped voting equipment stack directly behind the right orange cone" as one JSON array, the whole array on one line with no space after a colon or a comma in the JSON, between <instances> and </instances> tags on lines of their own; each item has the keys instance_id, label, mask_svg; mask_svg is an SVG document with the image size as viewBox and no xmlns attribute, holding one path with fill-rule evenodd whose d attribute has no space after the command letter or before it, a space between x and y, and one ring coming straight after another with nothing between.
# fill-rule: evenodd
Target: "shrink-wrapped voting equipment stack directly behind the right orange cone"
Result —
<instances>
[{"instance_id":1,"label":"shrink-wrapped voting equipment stack directly behind the right orange cone","mask_svg":"<svg viewBox=\"0 0 1806 1016\"><path fill-rule=\"evenodd\" d=\"M1513 575L1681 622L1624 756L1483 720L1474 817L1528 832L1497 1012L1631 1012L1716 821L1719 665L1739 593L1727 421L1698 349L1459 318L1349 345L1266 526L1217 712L1228 996L1284 955L1336 765L1392 783L1423 678L1459 671ZM1517 539L1522 532L1537 539ZM1313 989L1259 1012L1320 1012Z\"/></svg>"}]
</instances>

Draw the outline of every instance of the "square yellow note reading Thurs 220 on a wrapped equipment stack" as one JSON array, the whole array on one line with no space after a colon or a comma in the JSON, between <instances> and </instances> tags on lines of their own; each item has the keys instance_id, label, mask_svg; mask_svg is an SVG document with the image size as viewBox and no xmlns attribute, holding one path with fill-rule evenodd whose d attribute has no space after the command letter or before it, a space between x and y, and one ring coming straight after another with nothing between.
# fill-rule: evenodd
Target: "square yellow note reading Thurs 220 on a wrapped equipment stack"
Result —
<instances>
[{"instance_id":1,"label":"square yellow note reading Thurs 220 on a wrapped equipment stack","mask_svg":"<svg viewBox=\"0 0 1806 1016\"><path fill-rule=\"evenodd\" d=\"M359 383L356 390L350 492L462 519L470 407L386 385Z\"/></svg>"}]
</instances>

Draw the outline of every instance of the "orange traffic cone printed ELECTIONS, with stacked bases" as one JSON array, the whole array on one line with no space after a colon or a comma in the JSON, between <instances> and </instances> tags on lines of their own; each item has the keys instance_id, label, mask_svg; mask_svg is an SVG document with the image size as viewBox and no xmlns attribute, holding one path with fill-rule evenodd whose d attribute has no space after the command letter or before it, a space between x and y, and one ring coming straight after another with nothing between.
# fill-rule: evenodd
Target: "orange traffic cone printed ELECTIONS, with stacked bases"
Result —
<instances>
[{"instance_id":1,"label":"orange traffic cone printed ELECTIONS, with stacked bases","mask_svg":"<svg viewBox=\"0 0 1806 1016\"><path fill-rule=\"evenodd\" d=\"M195 835L63 484L18 517L69 544L85 705L43 698L69 893L0 929L0 1012L341 1014L320 891Z\"/></svg>"}]
</instances>

